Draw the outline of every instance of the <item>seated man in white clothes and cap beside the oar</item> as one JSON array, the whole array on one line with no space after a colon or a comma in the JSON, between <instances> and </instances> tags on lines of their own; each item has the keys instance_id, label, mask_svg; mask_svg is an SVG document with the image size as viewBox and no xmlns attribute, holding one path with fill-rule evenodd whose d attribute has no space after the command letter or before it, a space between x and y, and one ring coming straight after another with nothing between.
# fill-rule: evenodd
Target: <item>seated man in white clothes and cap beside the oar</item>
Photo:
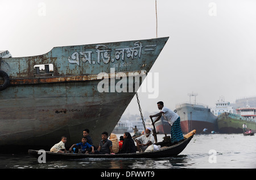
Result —
<instances>
[{"instance_id":1,"label":"seated man in white clothes and cap beside the oar","mask_svg":"<svg viewBox=\"0 0 256 180\"><path fill-rule=\"evenodd\" d=\"M150 146L155 142L155 139L152 136L152 134L150 134L150 132L151 132L151 128L147 127L145 130L145 134L135 139L135 142L137 144L137 151L144 152L148 146Z\"/></svg>"}]
</instances>

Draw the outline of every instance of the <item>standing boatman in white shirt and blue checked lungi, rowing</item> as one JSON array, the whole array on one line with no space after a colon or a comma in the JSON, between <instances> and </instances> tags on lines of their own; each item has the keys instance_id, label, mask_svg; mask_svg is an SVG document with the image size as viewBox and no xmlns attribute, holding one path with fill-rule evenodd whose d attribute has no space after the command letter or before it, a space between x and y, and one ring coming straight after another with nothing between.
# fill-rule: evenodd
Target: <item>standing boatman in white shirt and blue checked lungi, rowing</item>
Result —
<instances>
[{"instance_id":1,"label":"standing boatman in white shirt and blue checked lungi, rowing","mask_svg":"<svg viewBox=\"0 0 256 180\"><path fill-rule=\"evenodd\" d=\"M163 115L164 119L170 124L171 126L171 143L178 143L181 140L184 139L183 133L180 128L180 117L178 114L173 112L171 109L168 109L164 107L163 101L159 101L158 103L158 109L160 110L159 113L155 115L150 115L150 118L152 117L158 117L156 118L155 122L152 123L154 125Z\"/></svg>"}]
</instances>

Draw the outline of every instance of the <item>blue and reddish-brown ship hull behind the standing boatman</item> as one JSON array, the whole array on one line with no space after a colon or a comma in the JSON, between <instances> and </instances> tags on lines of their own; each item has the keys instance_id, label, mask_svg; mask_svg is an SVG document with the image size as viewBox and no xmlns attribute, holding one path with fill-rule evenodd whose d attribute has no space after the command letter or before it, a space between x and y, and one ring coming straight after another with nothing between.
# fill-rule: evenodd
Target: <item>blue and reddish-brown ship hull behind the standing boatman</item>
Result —
<instances>
[{"instance_id":1,"label":"blue and reddish-brown ship hull behind the standing boatman","mask_svg":"<svg viewBox=\"0 0 256 180\"><path fill-rule=\"evenodd\" d=\"M176 106L176 113L180 116L180 126L183 133L192 130L202 132L207 128L209 132L218 131L217 117L210 113L210 109L202 105L181 104Z\"/></svg>"}]
</instances>

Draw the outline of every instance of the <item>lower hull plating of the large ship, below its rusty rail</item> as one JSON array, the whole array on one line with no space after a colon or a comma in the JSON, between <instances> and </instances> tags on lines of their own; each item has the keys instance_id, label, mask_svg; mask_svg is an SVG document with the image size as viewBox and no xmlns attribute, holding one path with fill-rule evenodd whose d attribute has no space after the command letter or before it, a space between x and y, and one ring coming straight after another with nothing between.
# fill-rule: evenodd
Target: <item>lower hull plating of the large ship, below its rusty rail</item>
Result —
<instances>
[{"instance_id":1,"label":"lower hull plating of the large ship, below its rusty rail","mask_svg":"<svg viewBox=\"0 0 256 180\"><path fill-rule=\"evenodd\" d=\"M54 88L51 84L30 85L26 91L35 92L30 96L8 98L0 110L1 145L53 145L65 135L69 146L80 142L84 128L98 144L101 132L113 130L134 93L101 94L87 89L95 85L96 81L59 83Z\"/></svg>"}]
</instances>

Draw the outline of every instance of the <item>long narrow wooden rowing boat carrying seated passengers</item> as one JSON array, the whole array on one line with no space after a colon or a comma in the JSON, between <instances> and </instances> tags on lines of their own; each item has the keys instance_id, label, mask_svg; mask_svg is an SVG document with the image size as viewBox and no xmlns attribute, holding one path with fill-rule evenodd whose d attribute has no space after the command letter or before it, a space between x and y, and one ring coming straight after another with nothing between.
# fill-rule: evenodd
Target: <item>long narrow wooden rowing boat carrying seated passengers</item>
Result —
<instances>
[{"instance_id":1,"label":"long narrow wooden rowing boat carrying seated passengers","mask_svg":"<svg viewBox=\"0 0 256 180\"><path fill-rule=\"evenodd\" d=\"M184 136L184 140L177 144L171 144L168 142L155 143L156 145L161 145L161 148L156 151L150 152L138 152L138 153L126 153L126 154L114 154L114 155L102 155L102 154L81 154L81 153L53 153L46 151L46 160L61 160L61 159L75 159L75 158L160 158L160 157L172 157L177 156L181 153L188 143L195 135L196 130L189 132ZM39 157L42 152L36 150L28 150L28 154Z\"/></svg>"}]
</instances>

